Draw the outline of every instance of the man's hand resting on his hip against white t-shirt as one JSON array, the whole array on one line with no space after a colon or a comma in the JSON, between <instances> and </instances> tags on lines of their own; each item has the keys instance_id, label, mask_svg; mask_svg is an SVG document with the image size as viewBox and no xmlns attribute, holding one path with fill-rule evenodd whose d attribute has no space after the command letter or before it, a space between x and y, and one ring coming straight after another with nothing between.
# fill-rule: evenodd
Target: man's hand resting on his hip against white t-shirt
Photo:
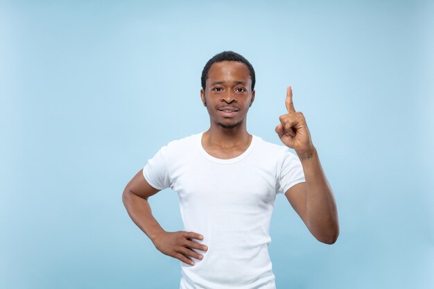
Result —
<instances>
[{"instance_id":1,"label":"man's hand resting on his hip against white t-shirt","mask_svg":"<svg viewBox=\"0 0 434 289\"><path fill-rule=\"evenodd\" d=\"M207 252L208 247L192 239L203 240L203 236L189 231L163 231L153 238L153 243L159 252L193 266L191 257L202 260L203 256L192 249Z\"/></svg>"}]
</instances>

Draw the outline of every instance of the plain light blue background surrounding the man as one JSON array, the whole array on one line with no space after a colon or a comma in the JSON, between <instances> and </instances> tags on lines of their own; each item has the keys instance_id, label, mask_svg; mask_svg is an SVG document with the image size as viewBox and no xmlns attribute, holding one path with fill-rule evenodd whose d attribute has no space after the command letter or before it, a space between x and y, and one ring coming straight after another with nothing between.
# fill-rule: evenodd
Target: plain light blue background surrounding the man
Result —
<instances>
[{"instance_id":1,"label":"plain light blue background surrounding the man","mask_svg":"<svg viewBox=\"0 0 434 289\"><path fill-rule=\"evenodd\" d=\"M1 1L0 288L177 288L121 202L168 141L206 130L200 72L257 72L248 130L279 143L286 85L336 195L318 243L281 195L278 288L434 288L434 6L428 1ZM182 229L177 196L150 199Z\"/></svg>"}]
</instances>

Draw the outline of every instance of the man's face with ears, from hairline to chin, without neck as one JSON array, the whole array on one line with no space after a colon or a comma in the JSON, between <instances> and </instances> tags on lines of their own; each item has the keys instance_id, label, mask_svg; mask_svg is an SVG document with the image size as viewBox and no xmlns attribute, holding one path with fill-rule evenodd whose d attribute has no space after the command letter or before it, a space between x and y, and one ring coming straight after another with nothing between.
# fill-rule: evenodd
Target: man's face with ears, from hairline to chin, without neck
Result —
<instances>
[{"instance_id":1,"label":"man's face with ears, from hairline to chin, without neck","mask_svg":"<svg viewBox=\"0 0 434 289\"><path fill-rule=\"evenodd\" d=\"M205 89L200 90L211 125L236 128L245 125L254 100L249 69L242 62L223 61L212 64Z\"/></svg>"}]
</instances>

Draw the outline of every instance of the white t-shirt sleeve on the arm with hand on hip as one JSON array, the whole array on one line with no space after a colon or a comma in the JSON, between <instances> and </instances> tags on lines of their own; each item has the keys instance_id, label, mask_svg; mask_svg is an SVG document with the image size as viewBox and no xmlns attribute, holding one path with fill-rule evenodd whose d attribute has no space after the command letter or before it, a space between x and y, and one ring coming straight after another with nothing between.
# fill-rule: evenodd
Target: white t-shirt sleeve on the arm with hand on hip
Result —
<instances>
[{"instance_id":1,"label":"white t-shirt sleeve on the arm with hand on hip","mask_svg":"<svg viewBox=\"0 0 434 289\"><path fill-rule=\"evenodd\" d=\"M143 175L148 184L160 191L171 186L166 157L167 146L164 146L152 159L148 160L148 164L143 168Z\"/></svg>"}]
</instances>

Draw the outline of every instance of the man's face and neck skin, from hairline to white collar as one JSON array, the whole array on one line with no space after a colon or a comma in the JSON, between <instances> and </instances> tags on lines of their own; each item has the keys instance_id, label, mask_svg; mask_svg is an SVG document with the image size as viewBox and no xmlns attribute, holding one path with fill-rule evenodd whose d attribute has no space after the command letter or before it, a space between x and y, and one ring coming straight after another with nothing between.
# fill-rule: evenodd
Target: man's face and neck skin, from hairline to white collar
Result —
<instances>
[{"instance_id":1,"label":"man's face and neck skin, from hairline to white collar","mask_svg":"<svg viewBox=\"0 0 434 289\"><path fill-rule=\"evenodd\" d=\"M251 87L249 69L241 62L217 62L209 69L206 90L200 90L210 119L209 130L202 137L209 155L232 159L250 146L252 135L246 130L246 117L254 101Z\"/></svg>"}]
</instances>

